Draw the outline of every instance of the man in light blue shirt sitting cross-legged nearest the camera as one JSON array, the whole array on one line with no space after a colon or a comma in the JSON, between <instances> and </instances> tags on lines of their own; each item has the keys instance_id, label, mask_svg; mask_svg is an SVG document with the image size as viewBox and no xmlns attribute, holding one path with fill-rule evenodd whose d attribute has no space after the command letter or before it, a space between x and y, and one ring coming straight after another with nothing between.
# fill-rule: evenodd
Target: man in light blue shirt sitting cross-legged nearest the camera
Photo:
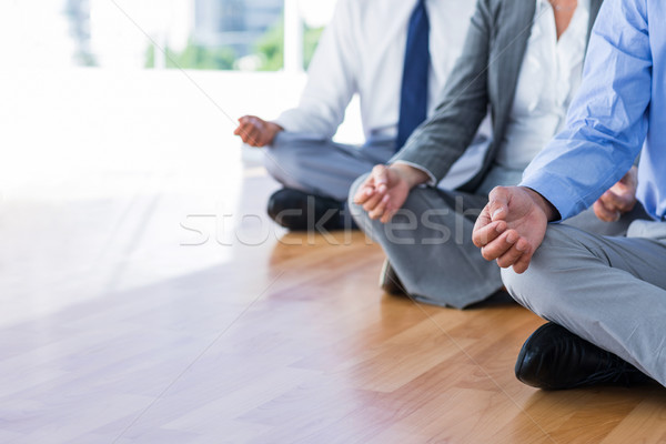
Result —
<instances>
[{"instance_id":1,"label":"man in light blue shirt sitting cross-legged nearest the camera","mask_svg":"<svg viewBox=\"0 0 666 444\"><path fill-rule=\"evenodd\" d=\"M664 19L663 0L604 2L566 130L518 186L493 190L474 228L511 294L552 321L518 355L516 375L527 384L568 389L646 374L666 385ZM548 225L592 205L644 141L637 194L653 220L634 221L626 238Z\"/></svg>"}]
</instances>

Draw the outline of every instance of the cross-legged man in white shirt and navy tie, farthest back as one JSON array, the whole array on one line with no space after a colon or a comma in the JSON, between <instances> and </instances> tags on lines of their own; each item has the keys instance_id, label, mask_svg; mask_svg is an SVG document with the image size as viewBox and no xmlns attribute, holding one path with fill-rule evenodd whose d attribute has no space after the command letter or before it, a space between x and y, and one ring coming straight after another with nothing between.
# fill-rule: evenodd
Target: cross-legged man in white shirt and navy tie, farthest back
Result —
<instances>
[{"instance_id":1,"label":"cross-legged man in white shirt and navy tie, farthest back","mask_svg":"<svg viewBox=\"0 0 666 444\"><path fill-rule=\"evenodd\" d=\"M437 104L473 10L467 0L339 1L299 107L272 122L245 115L235 130L245 143L268 147L265 167L284 185L269 201L271 218L291 230L343 226L352 182L391 158ZM335 143L355 93L366 141ZM460 176L478 163L461 163Z\"/></svg>"}]
</instances>

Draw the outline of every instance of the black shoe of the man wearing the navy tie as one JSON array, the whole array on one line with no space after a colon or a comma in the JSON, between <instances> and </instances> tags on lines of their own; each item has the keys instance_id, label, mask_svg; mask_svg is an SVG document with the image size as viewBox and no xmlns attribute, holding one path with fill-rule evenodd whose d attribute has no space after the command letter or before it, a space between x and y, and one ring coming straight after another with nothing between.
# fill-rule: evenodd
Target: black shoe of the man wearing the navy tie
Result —
<instances>
[{"instance_id":1,"label":"black shoe of the man wearing the navy tie","mask_svg":"<svg viewBox=\"0 0 666 444\"><path fill-rule=\"evenodd\" d=\"M334 199L283 188L269 199L272 220L292 231L342 230L344 204Z\"/></svg>"}]
</instances>

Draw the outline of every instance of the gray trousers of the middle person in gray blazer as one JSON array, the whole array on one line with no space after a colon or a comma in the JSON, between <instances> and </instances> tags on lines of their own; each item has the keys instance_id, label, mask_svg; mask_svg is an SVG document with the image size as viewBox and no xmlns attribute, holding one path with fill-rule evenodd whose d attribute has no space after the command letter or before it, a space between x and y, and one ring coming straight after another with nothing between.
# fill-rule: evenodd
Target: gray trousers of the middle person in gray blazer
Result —
<instances>
[{"instance_id":1,"label":"gray trousers of the middle person in gray blazer","mask_svg":"<svg viewBox=\"0 0 666 444\"><path fill-rule=\"evenodd\" d=\"M487 203L494 185L519 181L521 172L495 168L477 194L458 191L415 188L391 222L373 221L359 205L350 210L359 226L379 242L404 289L416 301L463 309L483 301L502 289L500 268L481 255L472 243L476 216ZM350 195L365 180L360 178ZM618 222L599 221L592 210L567 221L592 232L616 235L626 232L637 208Z\"/></svg>"}]
</instances>

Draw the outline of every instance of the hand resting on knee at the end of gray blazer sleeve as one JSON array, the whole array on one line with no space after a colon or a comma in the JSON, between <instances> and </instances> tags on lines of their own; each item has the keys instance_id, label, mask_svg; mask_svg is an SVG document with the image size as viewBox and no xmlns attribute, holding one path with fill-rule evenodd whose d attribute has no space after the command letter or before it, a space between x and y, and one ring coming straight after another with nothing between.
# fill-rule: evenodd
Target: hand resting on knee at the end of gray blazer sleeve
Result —
<instances>
[{"instance_id":1,"label":"hand resting on knee at the end of gray blazer sleeve","mask_svg":"<svg viewBox=\"0 0 666 444\"><path fill-rule=\"evenodd\" d=\"M426 181L426 173L404 163L375 165L354 195L354 203L362 204L370 219L386 223L405 203L410 190Z\"/></svg>"}]
</instances>

